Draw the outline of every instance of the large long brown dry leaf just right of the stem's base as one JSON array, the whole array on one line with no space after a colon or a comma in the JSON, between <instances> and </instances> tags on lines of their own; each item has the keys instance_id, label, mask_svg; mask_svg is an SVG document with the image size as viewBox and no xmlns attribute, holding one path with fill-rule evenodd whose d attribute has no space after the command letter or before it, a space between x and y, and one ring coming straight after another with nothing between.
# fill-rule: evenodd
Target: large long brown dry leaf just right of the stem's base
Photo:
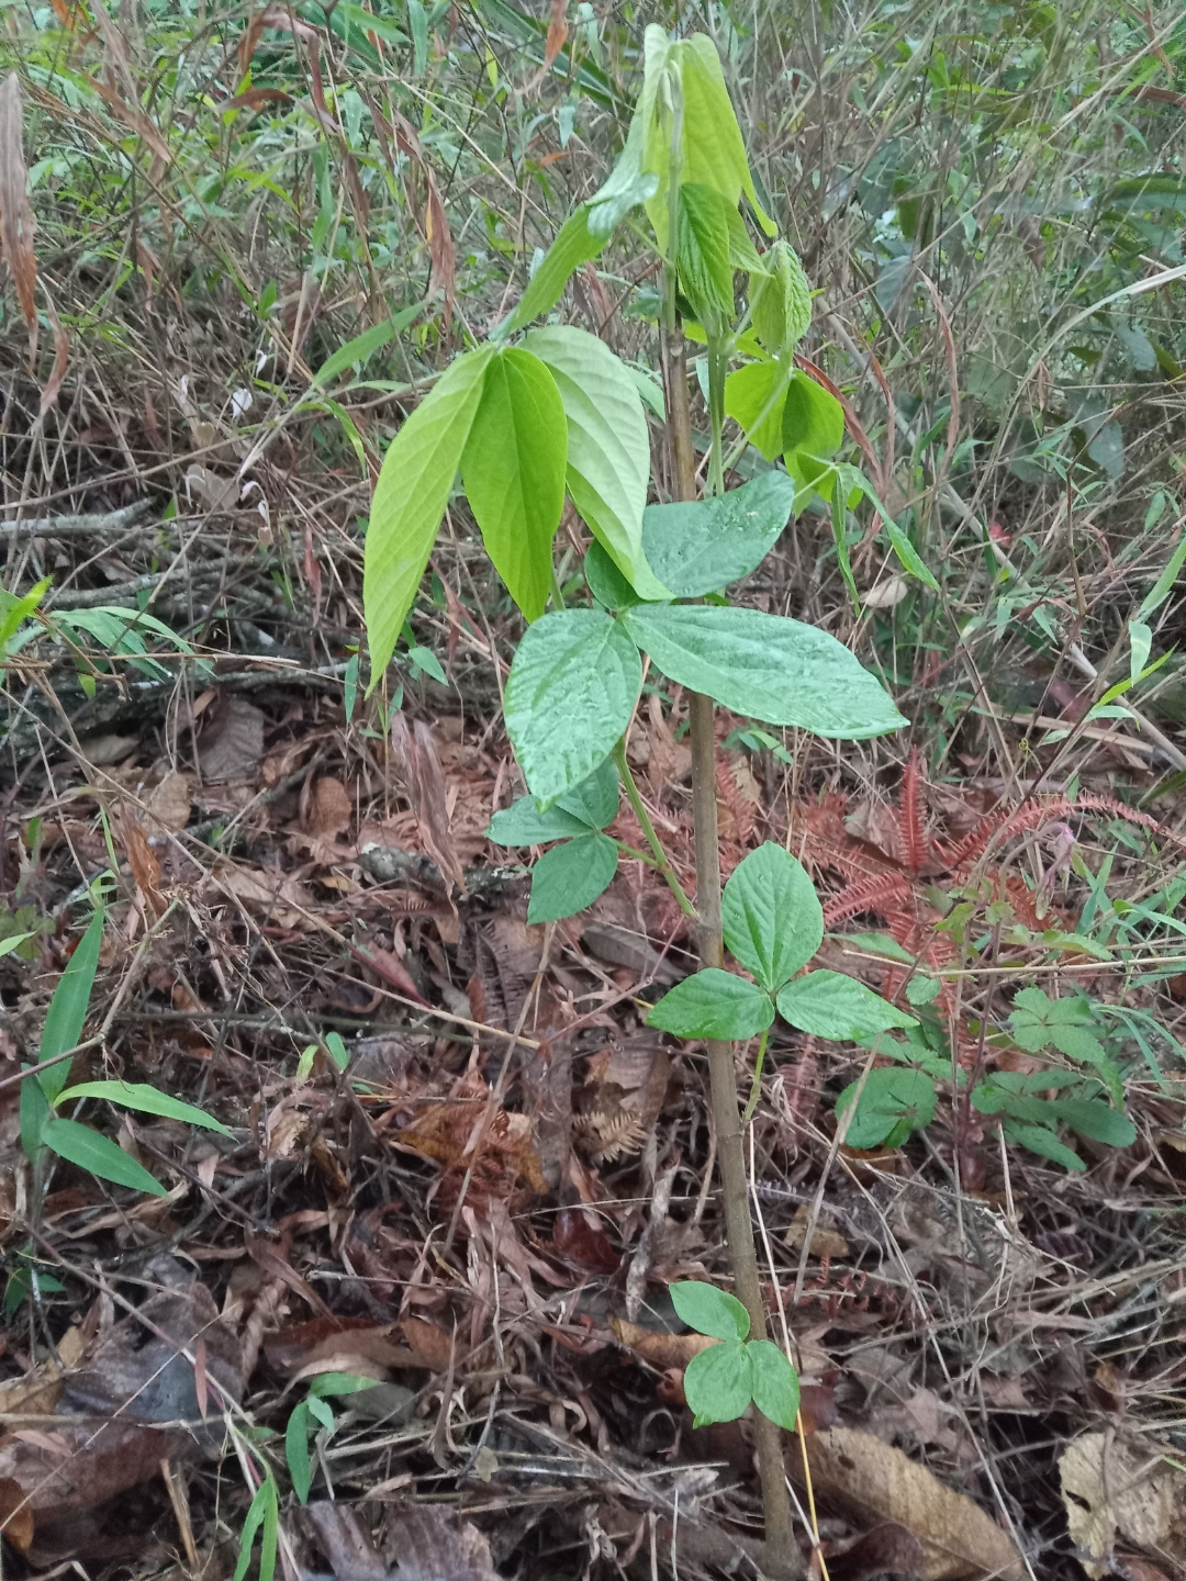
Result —
<instances>
[{"instance_id":1,"label":"large long brown dry leaf just right of the stem's base","mask_svg":"<svg viewBox=\"0 0 1186 1581\"><path fill-rule=\"evenodd\" d=\"M922 1543L922 1581L1022 1581L1010 1537L966 1494L871 1432L829 1428L806 1440L816 1496L870 1526L895 1521Z\"/></svg>"}]
</instances>

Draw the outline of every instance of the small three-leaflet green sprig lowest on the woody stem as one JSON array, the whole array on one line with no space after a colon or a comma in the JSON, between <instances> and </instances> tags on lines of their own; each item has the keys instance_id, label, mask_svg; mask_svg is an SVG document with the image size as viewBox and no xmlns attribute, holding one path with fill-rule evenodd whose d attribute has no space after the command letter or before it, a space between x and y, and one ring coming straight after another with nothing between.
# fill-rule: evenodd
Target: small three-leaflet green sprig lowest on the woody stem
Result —
<instances>
[{"instance_id":1,"label":"small three-leaflet green sprig lowest on the woody stem","mask_svg":"<svg viewBox=\"0 0 1186 1581\"><path fill-rule=\"evenodd\" d=\"M799 1415L799 1375L770 1339L750 1339L750 1314L716 1285L688 1279L667 1287L677 1315L697 1334L720 1339L683 1369L683 1396L694 1426L735 1421L753 1402L791 1431Z\"/></svg>"}]
</instances>

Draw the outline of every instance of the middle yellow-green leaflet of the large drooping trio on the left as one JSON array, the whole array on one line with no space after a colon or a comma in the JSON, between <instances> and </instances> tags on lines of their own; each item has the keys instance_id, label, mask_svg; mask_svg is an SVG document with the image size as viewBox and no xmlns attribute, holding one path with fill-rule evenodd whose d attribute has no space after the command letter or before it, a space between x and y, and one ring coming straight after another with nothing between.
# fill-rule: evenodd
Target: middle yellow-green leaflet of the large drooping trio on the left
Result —
<instances>
[{"instance_id":1,"label":"middle yellow-green leaflet of the large drooping trio on the left","mask_svg":"<svg viewBox=\"0 0 1186 1581\"><path fill-rule=\"evenodd\" d=\"M528 620L544 613L552 587L552 538L565 509L565 403L539 357L500 351L462 452L465 495L482 541Z\"/></svg>"}]
</instances>

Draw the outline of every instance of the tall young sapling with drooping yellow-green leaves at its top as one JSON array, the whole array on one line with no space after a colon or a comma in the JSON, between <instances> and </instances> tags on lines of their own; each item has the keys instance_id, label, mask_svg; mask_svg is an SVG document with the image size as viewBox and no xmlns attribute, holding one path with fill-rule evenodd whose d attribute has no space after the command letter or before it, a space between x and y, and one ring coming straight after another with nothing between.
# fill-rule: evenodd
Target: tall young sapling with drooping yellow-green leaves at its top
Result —
<instances>
[{"instance_id":1,"label":"tall young sapling with drooping yellow-green leaves at its top","mask_svg":"<svg viewBox=\"0 0 1186 1581\"><path fill-rule=\"evenodd\" d=\"M765 253L751 237L743 198ZM550 313L572 270L595 258L637 209L650 223L663 281L659 330L674 498L653 506L647 504L647 416L631 370L585 330L528 327ZM384 458L367 531L372 689L403 632L459 471L490 560L530 623L511 664L504 724L533 802L500 816L492 838L517 844L571 840L541 860L531 895L534 919L565 914L563 889L576 876L580 889L572 901L588 904L614 874L615 843L602 833L606 814L612 816L604 768L610 757L656 868L691 911L645 817L625 754L642 689L642 655L685 688L696 922L708 969L723 966L713 704L761 724L797 726L832 740L865 740L906 723L835 637L795 620L734 607L721 591L762 561L791 515L816 493L832 503L841 553L848 504L857 492L873 493L854 468L833 460L844 438L840 402L794 367L795 345L811 319L810 289L792 250L784 242L769 245L775 229L757 201L715 44L701 35L672 41L663 28L648 27L642 92L612 175L565 223L522 300L487 343L462 353L405 421ZM738 270L746 294L740 315ZM696 498L685 323L688 335L707 348L708 500ZM734 378L727 387L729 362L738 351L757 372L738 370L740 381ZM740 449L751 440L767 458L781 454L786 470L764 473L726 495L727 406L746 433ZM593 593L588 607L565 607L552 564L566 495L595 539L585 564ZM905 534L898 538L905 542ZM905 569L917 574L919 564L912 555ZM587 787L591 776L593 790ZM765 1314L729 1039L751 1036L737 1028L754 1023L759 1004L761 1015L769 1007L773 1017L772 996L786 993L794 1002L799 993L827 998L848 991L789 987L795 968L783 966L794 949L778 934L772 938L772 949L781 952L778 968L757 988L748 985L748 1020L740 1012L710 1021L693 1018L713 1028L708 1064L726 1228L737 1292L756 1339ZM724 994L716 979L708 990L713 987L718 998ZM689 991L702 994L705 985ZM770 1564L789 1568L791 1507L778 1426L761 1413L757 1439Z\"/></svg>"}]
</instances>

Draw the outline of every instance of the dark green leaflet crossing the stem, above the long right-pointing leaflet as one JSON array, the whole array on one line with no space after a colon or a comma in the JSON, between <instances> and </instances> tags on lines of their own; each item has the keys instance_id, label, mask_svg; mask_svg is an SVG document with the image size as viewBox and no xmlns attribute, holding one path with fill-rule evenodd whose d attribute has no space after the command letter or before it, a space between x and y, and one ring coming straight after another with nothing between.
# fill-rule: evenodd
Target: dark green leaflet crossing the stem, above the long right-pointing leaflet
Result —
<instances>
[{"instance_id":1,"label":"dark green leaflet crossing the stem, above the long right-pointing leaflet","mask_svg":"<svg viewBox=\"0 0 1186 1581\"><path fill-rule=\"evenodd\" d=\"M765 560L794 503L795 485L770 471L715 500L647 506L647 560L677 598L715 593Z\"/></svg>"}]
</instances>

